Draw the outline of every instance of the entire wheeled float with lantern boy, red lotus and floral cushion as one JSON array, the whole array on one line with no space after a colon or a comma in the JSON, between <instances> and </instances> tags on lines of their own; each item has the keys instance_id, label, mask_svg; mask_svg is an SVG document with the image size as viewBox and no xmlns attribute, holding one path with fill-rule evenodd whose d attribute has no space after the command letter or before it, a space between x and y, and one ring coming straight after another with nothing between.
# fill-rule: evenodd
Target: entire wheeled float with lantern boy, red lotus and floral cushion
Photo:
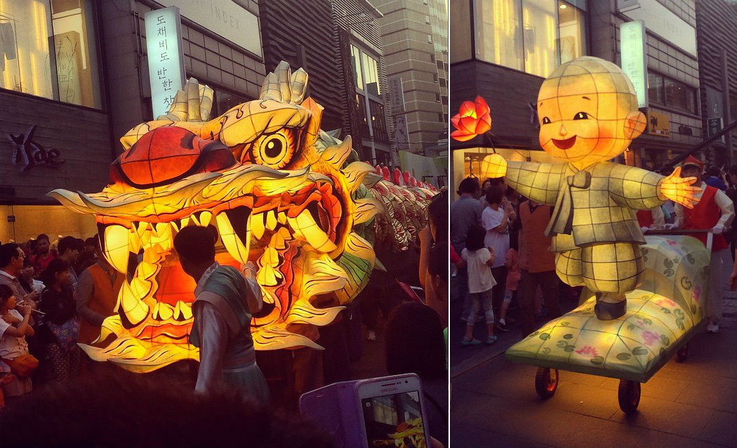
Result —
<instances>
[{"instance_id":1,"label":"entire wheeled float with lantern boy, red lotus and floral cushion","mask_svg":"<svg viewBox=\"0 0 737 448\"><path fill-rule=\"evenodd\" d=\"M483 99L464 103L454 137L487 132L488 115ZM542 83L537 116L540 145L559 162L507 162L494 153L481 175L505 177L521 195L554 206L545 234L556 273L585 293L579 307L511 346L506 358L538 367L542 398L555 393L559 370L621 379L619 403L629 413L638 407L641 382L674 354L685 360L688 340L703 324L710 260L693 237L645 238L635 213L668 199L692 207L696 178L609 161L646 121L629 78L608 61L579 57L559 66Z\"/></svg>"}]
</instances>

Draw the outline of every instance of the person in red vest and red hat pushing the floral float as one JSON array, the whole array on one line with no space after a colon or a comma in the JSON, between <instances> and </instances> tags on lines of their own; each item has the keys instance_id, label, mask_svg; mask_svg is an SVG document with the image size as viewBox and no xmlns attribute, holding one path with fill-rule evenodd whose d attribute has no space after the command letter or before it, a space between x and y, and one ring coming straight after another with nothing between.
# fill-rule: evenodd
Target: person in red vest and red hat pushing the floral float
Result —
<instances>
[{"instance_id":1,"label":"person in red vest and red hat pushing the floral float","mask_svg":"<svg viewBox=\"0 0 737 448\"><path fill-rule=\"evenodd\" d=\"M701 178L704 164L693 155L689 156L681 168L681 177ZM694 186L696 186L694 184ZM735 209L732 200L722 190L699 185L702 191L696 194L699 203L693 209L684 209L676 204L676 220L670 228L711 229L714 237L711 243L711 262L709 265L709 296L706 315L709 320L706 329L710 333L719 331L719 318L722 316L722 296L724 295L724 263L730 257L729 243L724 238L724 230L732 223ZM694 235L706 243L706 235Z\"/></svg>"}]
</instances>

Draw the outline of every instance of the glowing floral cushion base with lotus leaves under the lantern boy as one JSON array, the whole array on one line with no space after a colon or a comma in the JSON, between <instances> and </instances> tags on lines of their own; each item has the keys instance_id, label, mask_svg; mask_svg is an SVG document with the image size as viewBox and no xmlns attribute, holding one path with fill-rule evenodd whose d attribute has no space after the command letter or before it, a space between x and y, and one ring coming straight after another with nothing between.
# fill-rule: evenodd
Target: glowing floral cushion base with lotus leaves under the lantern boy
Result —
<instances>
[{"instance_id":1,"label":"glowing floral cushion base with lotus leaves under the lantern boy","mask_svg":"<svg viewBox=\"0 0 737 448\"><path fill-rule=\"evenodd\" d=\"M704 319L710 251L685 236L646 237L643 282L627 312L599 321L595 297L506 351L514 363L646 382Z\"/></svg>"}]
</instances>

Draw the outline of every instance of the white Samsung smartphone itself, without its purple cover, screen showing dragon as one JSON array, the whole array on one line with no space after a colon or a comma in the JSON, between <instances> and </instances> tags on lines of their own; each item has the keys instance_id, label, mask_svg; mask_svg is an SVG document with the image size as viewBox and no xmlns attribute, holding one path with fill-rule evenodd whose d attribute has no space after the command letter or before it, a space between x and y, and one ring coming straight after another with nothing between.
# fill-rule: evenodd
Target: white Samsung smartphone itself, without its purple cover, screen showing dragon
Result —
<instances>
[{"instance_id":1,"label":"white Samsung smartphone itself, without its purple cover, screen showing dragon","mask_svg":"<svg viewBox=\"0 0 737 448\"><path fill-rule=\"evenodd\" d=\"M414 374L357 383L366 447L425 448L430 435L425 422L422 385Z\"/></svg>"}]
</instances>

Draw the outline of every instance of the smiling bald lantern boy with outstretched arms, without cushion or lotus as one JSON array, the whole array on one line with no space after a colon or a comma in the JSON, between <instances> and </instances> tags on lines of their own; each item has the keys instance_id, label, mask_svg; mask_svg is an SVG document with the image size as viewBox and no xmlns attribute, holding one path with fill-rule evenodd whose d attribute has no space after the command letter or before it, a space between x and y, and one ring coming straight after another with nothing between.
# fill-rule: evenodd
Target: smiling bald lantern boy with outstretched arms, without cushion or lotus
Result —
<instances>
[{"instance_id":1,"label":"smiling bald lantern boy with outstretched arms, without cushion or lotus","mask_svg":"<svg viewBox=\"0 0 737 448\"><path fill-rule=\"evenodd\" d=\"M556 272L596 294L595 312L610 320L626 312L625 293L640 283L645 244L635 210L671 199L692 208L696 178L680 168L663 177L608 161L643 132L635 88L615 64L579 57L553 71L537 97L540 145L561 161L507 162L486 156L481 170L542 203L555 206L545 234L553 237Z\"/></svg>"}]
</instances>

